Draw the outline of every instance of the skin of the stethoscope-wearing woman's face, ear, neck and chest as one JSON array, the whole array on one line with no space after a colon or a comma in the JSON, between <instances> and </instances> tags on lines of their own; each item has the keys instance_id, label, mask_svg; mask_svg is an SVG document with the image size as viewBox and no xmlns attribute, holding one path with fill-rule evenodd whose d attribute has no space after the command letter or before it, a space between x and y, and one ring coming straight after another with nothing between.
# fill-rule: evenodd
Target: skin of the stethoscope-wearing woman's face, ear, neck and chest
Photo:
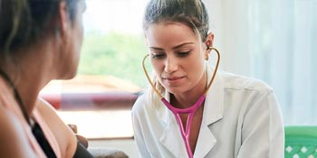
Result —
<instances>
[{"instance_id":1,"label":"skin of the stethoscope-wearing woman's face, ear, neck and chest","mask_svg":"<svg viewBox=\"0 0 317 158\"><path fill-rule=\"evenodd\" d=\"M187 108L197 102L207 88L205 58L210 53L214 35L201 42L193 30L183 23L153 23L145 31L151 64L160 84L171 94L174 107ZM189 143L194 152L203 116L203 106L194 115ZM184 127L187 114L180 115Z\"/></svg>"}]
</instances>

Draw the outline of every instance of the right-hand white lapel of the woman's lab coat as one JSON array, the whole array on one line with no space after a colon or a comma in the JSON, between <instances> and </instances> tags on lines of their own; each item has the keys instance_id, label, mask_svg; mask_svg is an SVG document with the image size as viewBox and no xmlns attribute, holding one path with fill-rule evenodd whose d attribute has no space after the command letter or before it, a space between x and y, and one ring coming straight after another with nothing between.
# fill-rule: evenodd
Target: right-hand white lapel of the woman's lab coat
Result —
<instances>
[{"instance_id":1,"label":"right-hand white lapel of the woman's lab coat","mask_svg":"<svg viewBox=\"0 0 317 158\"><path fill-rule=\"evenodd\" d=\"M207 79L210 80L213 70L207 68ZM224 80L221 72L216 73L216 79L207 92L205 100L203 121L200 127L194 157L205 157L216 144L216 137L212 134L209 126L223 117L224 109Z\"/></svg>"}]
</instances>

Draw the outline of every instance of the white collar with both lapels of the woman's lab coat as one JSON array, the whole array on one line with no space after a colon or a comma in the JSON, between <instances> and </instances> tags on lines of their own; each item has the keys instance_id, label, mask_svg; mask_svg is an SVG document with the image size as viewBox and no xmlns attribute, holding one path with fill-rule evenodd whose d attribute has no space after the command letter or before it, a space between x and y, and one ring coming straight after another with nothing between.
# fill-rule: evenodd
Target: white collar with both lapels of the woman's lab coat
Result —
<instances>
[{"instance_id":1,"label":"white collar with both lapels of the woman's lab coat","mask_svg":"<svg viewBox=\"0 0 317 158\"><path fill-rule=\"evenodd\" d=\"M207 79L212 78L214 69L207 66ZM165 93L165 98L170 100L169 93ZM200 127L200 132L197 140L196 151L194 157L204 157L211 151L216 144L216 138L211 133L208 125L211 125L223 117L224 110L224 79L222 79L221 71L216 72L216 78L213 85L207 92L205 100L204 116ZM161 144L164 144L170 153L175 157L187 157L185 144L179 131L178 123L175 116L168 107L163 103L157 107L157 115L161 121L166 123L166 129L160 137ZM181 142L176 141L181 140Z\"/></svg>"}]
</instances>

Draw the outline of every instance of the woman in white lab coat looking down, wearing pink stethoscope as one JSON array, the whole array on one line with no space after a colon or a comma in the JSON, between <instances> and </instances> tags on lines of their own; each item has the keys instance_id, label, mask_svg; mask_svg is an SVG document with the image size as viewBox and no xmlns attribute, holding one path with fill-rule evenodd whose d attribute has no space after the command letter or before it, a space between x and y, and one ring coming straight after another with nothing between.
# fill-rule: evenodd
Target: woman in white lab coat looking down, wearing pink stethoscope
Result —
<instances>
[{"instance_id":1,"label":"woman in white lab coat looking down, wearing pink stethoscope","mask_svg":"<svg viewBox=\"0 0 317 158\"><path fill-rule=\"evenodd\" d=\"M207 64L217 50L201 0L150 0L143 28L154 74L132 108L142 157L283 157L273 88Z\"/></svg>"}]
</instances>

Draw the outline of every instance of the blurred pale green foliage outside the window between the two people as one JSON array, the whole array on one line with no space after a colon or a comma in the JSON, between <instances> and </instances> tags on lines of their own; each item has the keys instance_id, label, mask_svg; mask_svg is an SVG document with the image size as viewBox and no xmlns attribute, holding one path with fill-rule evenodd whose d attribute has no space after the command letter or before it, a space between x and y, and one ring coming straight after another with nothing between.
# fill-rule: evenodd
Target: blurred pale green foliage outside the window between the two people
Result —
<instances>
[{"instance_id":1,"label":"blurred pale green foliage outside the window between the two people","mask_svg":"<svg viewBox=\"0 0 317 158\"><path fill-rule=\"evenodd\" d=\"M146 79L141 62L146 53L141 34L85 33L78 73L115 76L143 88Z\"/></svg>"}]
</instances>

